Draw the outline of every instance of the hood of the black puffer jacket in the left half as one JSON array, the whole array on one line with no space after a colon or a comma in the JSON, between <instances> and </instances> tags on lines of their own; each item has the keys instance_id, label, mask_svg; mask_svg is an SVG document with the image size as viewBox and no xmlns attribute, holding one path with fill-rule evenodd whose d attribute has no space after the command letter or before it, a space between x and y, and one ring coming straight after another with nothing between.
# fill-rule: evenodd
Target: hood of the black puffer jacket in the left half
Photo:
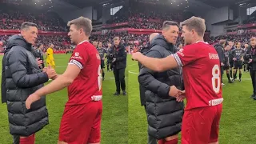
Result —
<instances>
[{"instance_id":1,"label":"hood of the black puffer jacket in the left half","mask_svg":"<svg viewBox=\"0 0 256 144\"><path fill-rule=\"evenodd\" d=\"M8 39L5 52L8 52L13 46L22 46L26 50L32 50L32 45L26 42L22 35L19 34L13 35Z\"/></svg>"}]
</instances>

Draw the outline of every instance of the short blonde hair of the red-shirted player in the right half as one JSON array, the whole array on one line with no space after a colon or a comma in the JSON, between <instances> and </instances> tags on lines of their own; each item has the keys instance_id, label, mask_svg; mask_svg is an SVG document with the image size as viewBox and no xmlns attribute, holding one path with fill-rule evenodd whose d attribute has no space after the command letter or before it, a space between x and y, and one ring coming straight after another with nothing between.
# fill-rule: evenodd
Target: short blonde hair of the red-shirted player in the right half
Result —
<instances>
[{"instance_id":1,"label":"short blonde hair of the red-shirted player in the right half","mask_svg":"<svg viewBox=\"0 0 256 144\"><path fill-rule=\"evenodd\" d=\"M203 36L206 31L206 21L203 18L191 17L181 22L181 27L186 26L188 30L195 30L199 36Z\"/></svg>"}]
</instances>

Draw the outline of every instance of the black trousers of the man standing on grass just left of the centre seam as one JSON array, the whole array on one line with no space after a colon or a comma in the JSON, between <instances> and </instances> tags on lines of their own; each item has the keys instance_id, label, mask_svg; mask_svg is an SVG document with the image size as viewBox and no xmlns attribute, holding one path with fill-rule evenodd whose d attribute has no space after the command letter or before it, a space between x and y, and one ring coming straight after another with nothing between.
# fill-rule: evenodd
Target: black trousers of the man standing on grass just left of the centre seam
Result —
<instances>
[{"instance_id":1,"label":"black trousers of the man standing on grass just left of the centre seam","mask_svg":"<svg viewBox=\"0 0 256 144\"><path fill-rule=\"evenodd\" d=\"M114 79L115 79L115 86L118 93L120 93L120 85L122 88L122 91L126 90L126 81L125 81L125 71L126 68L123 69L116 69L114 66L113 73L114 73Z\"/></svg>"}]
</instances>

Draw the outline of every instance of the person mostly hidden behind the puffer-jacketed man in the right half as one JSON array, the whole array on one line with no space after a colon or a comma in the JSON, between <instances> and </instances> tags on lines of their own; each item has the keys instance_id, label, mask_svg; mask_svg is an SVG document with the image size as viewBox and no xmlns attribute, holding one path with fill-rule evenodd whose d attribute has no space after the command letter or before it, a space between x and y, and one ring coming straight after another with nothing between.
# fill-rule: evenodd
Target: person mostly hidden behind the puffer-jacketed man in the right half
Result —
<instances>
[{"instance_id":1,"label":"person mostly hidden behind the puffer-jacketed man in the right half","mask_svg":"<svg viewBox=\"0 0 256 144\"><path fill-rule=\"evenodd\" d=\"M150 43L152 42L153 38L156 37L158 33L150 34L150 41L146 47L143 47L141 50L139 50L142 54L146 55L146 53L150 50ZM141 70L142 64L138 62L138 70ZM139 93L141 98L141 105L144 106L146 110L146 96L145 96L146 88L139 85ZM148 135L148 144L157 144L157 139L152 137L150 134Z\"/></svg>"}]
</instances>

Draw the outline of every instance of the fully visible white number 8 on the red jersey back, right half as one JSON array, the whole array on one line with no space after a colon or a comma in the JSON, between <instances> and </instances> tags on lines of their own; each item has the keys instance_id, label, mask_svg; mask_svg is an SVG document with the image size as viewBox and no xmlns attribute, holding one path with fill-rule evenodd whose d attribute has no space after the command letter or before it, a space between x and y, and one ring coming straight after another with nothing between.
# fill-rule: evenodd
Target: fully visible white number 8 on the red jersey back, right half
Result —
<instances>
[{"instance_id":1,"label":"fully visible white number 8 on the red jersey back, right half","mask_svg":"<svg viewBox=\"0 0 256 144\"><path fill-rule=\"evenodd\" d=\"M211 82L213 85L213 90L215 91L216 94L219 93L219 90L221 88L221 78L220 78L220 70L218 65L214 65L213 70L212 70L212 75L213 77L211 78Z\"/></svg>"}]
</instances>

